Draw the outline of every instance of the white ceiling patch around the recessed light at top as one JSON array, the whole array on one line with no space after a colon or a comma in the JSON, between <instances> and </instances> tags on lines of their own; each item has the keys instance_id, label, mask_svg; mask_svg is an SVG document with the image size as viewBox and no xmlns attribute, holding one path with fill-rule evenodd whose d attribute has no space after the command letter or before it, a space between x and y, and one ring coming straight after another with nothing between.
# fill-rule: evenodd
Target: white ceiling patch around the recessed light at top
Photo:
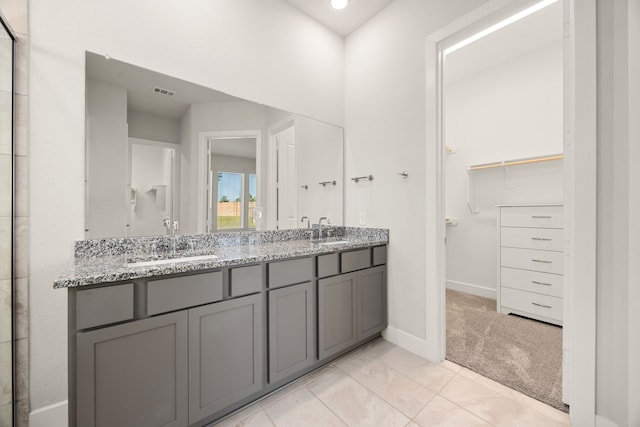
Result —
<instances>
[{"instance_id":1,"label":"white ceiling patch around the recessed light at top","mask_svg":"<svg viewBox=\"0 0 640 427\"><path fill-rule=\"evenodd\" d=\"M349 0L342 10L331 7L330 0L284 0L325 27L347 36L373 18L393 0Z\"/></svg>"}]
</instances>

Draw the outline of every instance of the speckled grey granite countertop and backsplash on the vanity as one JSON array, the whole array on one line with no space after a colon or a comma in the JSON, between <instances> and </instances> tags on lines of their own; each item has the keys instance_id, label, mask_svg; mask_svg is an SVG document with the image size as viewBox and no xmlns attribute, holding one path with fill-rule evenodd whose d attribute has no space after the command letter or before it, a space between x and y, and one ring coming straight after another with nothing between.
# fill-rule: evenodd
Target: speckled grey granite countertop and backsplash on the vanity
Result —
<instances>
[{"instance_id":1,"label":"speckled grey granite countertop and backsplash on the vanity","mask_svg":"<svg viewBox=\"0 0 640 427\"><path fill-rule=\"evenodd\" d=\"M308 229L250 231L201 234L176 237L176 255L168 256L170 240L166 236L79 240L75 258L54 288L69 288L175 273L222 268L300 256L318 255L348 249L386 244L389 232L380 228L331 227L328 241L348 243L320 244L309 240ZM204 257L213 259L176 261L159 265L130 266L166 258Z\"/></svg>"}]
</instances>

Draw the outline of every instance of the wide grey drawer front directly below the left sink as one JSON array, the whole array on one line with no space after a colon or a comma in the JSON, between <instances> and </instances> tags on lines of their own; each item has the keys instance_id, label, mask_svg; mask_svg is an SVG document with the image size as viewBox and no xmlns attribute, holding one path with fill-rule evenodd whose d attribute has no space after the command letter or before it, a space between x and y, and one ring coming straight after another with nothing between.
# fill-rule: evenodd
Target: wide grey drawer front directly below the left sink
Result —
<instances>
[{"instance_id":1,"label":"wide grey drawer front directly below the left sink","mask_svg":"<svg viewBox=\"0 0 640 427\"><path fill-rule=\"evenodd\" d=\"M149 316L222 299L222 272L150 280L147 284Z\"/></svg>"}]
</instances>

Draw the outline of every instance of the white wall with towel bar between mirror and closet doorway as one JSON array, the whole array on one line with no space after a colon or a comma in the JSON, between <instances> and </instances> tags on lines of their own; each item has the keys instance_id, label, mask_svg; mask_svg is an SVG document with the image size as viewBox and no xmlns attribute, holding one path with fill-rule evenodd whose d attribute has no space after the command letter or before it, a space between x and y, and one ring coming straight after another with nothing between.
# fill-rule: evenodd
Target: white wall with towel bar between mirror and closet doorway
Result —
<instances>
[{"instance_id":1,"label":"white wall with towel bar between mirror and closet doorway","mask_svg":"<svg viewBox=\"0 0 640 427\"><path fill-rule=\"evenodd\" d=\"M425 39L483 0L396 0L347 37L345 223L390 229L387 337L426 339ZM409 177L398 175L407 171ZM355 176L374 180L354 183Z\"/></svg>"}]
</instances>

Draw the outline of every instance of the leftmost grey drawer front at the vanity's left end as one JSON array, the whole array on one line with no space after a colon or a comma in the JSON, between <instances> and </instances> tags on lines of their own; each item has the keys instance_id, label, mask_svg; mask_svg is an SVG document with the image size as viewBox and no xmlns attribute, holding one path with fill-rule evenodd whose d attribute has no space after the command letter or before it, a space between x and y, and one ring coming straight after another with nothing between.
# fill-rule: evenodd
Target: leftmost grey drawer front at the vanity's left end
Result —
<instances>
[{"instance_id":1,"label":"leftmost grey drawer front at the vanity's left end","mask_svg":"<svg viewBox=\"0 0 640 427\"><path fill-rule=\"evenodd\" d=\"M76 329L133 319L133 283L76 293Z\"/></svg>"}]
</instances>

